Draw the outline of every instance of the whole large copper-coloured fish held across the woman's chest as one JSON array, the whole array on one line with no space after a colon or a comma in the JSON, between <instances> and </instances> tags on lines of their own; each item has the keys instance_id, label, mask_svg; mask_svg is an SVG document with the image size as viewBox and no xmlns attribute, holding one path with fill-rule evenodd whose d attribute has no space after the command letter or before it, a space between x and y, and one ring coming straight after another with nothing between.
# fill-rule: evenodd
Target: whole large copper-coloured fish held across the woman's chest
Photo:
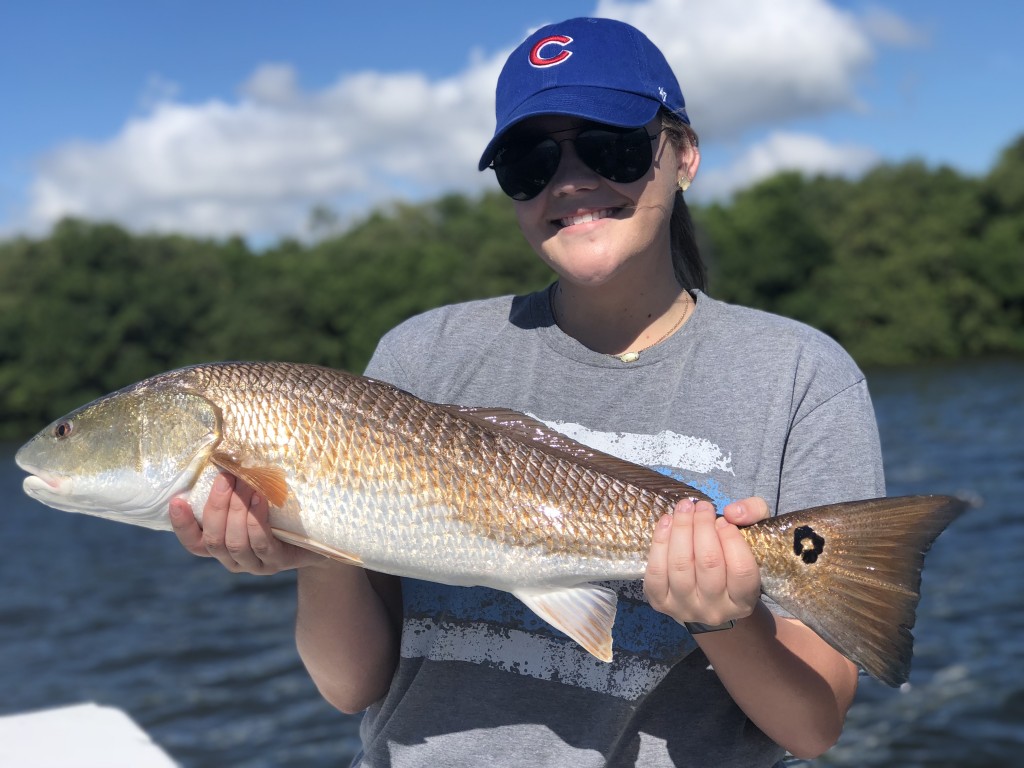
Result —
<instances>
[{"instance_id":1,"label":"whole large copper-coloured fish held across the woman's chest","mask_svg":"<svg viewBox=\"0 0 1024 768\"><path fill-rule=\"evenodd\" d=\"M56 509L170 528L220 470L271 505L280 539L403 577L511 592L603 660L615 593L658 518L702 494L521 414L441 406L291 364L146 379L53 422L15 460ZM949 497L834 504L742 528L762 589L872 676L907 678L924 553Z\"/></svg>"}]
</instances>

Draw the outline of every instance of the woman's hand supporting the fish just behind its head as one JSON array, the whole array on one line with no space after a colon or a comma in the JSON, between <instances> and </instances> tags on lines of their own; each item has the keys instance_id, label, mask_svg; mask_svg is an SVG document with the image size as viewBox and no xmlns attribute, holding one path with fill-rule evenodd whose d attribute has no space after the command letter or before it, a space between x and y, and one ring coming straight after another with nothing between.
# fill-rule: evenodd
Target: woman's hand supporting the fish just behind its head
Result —
<instances>
[{"instance_id":1,"label":"woman's hand supporting the fish just behind its head","mask_svg":"<svg viewBox=\"0 0 1024 768\"><path fill-rule=\"evenodd\" d=\"M319 565L328 559L286 544L270 532L266 499L242 480L221 474L203 508L203 524L183 499L171 501L171 527L181 546L200 557L215 557L234 573L267 575Z\"/></svg>"}]
</instances>

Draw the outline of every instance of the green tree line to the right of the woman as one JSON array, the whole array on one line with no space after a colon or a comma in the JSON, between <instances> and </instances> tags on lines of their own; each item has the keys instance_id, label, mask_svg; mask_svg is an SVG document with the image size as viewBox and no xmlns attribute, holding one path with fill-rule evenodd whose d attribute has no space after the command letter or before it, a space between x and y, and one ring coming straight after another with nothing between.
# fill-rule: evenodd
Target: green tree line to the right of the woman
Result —
<instances>
[{"instance_id":1,"label":"green tree line to the right of the woman","mask_svg":"<svg viewBox=\"0 0 1024 768\"><path fill-rule=\"evenodd\" d=\"M720 298L801 319L862 365L1024 351L1024 138L991 175L921 163L780 174L695 212Z\"/></svg>"}]
</instances>

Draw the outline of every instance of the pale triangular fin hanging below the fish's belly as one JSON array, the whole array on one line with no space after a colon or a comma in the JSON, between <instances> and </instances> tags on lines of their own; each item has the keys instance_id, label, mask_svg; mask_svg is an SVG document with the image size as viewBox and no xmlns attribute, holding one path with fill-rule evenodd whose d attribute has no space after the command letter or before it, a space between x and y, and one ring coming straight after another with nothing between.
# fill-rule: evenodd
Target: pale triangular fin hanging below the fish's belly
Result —
<instances>
[{"instance_id":1,"label":"pale triangular fin hanging below the fish's belly","mask_svg":"<svg viewBox=\"0 0 1024 768\"><path fill-rule=\"evenodd\" d=\"M581 584L547 590L519 589L512 594L602 662L611 660L611 627L618 601L614 592L606 587Z\"/></svg>"}]
</instances>

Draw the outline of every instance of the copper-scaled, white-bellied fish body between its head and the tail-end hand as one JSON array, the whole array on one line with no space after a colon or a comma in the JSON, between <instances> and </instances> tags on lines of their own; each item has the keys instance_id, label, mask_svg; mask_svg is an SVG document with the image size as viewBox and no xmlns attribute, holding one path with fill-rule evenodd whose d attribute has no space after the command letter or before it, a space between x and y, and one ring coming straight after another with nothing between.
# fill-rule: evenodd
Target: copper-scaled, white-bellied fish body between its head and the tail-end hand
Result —
<instances>
[{"instance_id":1,"label":"copper-scaled, white-bellied fish body between its head and the tail-end hand","mask_svg":"<svg viewBox=\"0 0 1024 768\"><path fill-rule=\"evenodd\" d=\"M275 525L407 575L436 562L435 581L455 584L636 579L653 522L675 499L702 497L522 415L438 406L339 371L222 364L152 386L216 406L223 437L212 462L275 507L298 508L301 529L278 510ZM282 470L285 496L254 476L266 467ZM473 555L454 558L468 542Z\"/></svg>"}]
</instances>

